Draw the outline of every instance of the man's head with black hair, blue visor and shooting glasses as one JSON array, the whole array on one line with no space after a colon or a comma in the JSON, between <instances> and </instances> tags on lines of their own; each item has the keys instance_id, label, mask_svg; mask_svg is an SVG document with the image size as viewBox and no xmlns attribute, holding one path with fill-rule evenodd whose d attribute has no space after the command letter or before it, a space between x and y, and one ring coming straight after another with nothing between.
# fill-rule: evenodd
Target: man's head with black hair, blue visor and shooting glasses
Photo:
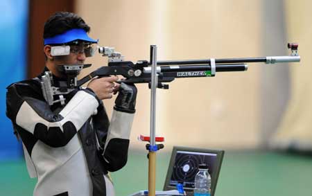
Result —
<instances>
[{"instance_id":1,"label":"man's head with black hair, blue visor and shooting glasses","mask_svg":"<svg viewBox=\"0 0 312 196\"><path fill-rule=\"evenodd\" d=\"M44 53L46 66L53 74L64 78L57 67L62 64L83 64L92 56L90 27L78 15L71 12L56 12L44 24Z\"/></svg>"}]
</instances>

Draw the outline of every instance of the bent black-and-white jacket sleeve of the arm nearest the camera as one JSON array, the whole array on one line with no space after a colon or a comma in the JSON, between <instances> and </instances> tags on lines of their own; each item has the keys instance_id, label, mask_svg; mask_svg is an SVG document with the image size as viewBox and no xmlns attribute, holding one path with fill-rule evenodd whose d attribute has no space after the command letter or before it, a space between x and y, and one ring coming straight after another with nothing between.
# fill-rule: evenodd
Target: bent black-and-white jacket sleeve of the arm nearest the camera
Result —
<instances>
[{"instance_id":1,"label":"bent black-and-white jacket sleeve of the arm nearest the camera","mask_svg":"<svg viewBox=\"0 0 312 196\"><path fill-rule=\"evenodd\" d=\"M80 90L54 114L38 93L40 90L32 85L19 82L7 89L6 114L13 125L55 148L67 145L85 121L96 114L99 105L92 93Z\"/></svg>"}]
</instances>

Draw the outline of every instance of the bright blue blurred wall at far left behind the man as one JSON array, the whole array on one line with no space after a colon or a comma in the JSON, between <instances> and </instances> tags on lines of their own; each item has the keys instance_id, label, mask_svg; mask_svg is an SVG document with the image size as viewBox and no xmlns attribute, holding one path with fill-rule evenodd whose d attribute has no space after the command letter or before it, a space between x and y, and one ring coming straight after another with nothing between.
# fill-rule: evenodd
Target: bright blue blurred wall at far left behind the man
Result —
<instances>
[{"instance_id":1,"label":"bright blue blurred wall at far left behind the man","mask_svg":"<svg viewBox=\"0 0 312 196\"><path fill-rule=\"evenodd\" d=\"M6 117L6 87L26 78L28 0L1 0L0 8L0 160L22 154L12 124Z\"/></svg>"}]
</instances>

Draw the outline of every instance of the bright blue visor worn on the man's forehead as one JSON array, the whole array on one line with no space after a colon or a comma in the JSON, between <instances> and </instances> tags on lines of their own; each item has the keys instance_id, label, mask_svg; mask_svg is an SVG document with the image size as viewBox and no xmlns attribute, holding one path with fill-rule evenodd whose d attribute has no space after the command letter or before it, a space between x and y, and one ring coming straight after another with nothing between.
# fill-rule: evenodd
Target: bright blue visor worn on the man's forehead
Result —
<instances>
[{"instance_id":1,"label":"bright blue visor worn on the man's forehead","mask_svg":"<svg viewBox=\"0 0 312 196\"><path fill-rule=\"evenodd\" d=\"M87 32L83 28L73 28L67 30L65 33L55 35L54 37L48 37L44 39L44 45L47 44L66 44L75 40L82 40L85 42L98 43L98 40L92 39L87 35Z\"/></svg>"}]
</instances>

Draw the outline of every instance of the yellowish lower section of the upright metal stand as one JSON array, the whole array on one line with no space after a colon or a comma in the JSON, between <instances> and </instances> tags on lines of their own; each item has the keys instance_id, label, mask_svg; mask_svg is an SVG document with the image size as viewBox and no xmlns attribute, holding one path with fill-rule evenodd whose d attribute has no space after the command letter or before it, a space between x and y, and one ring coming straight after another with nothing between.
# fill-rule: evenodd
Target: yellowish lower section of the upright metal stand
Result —
<instances>
[{"instance_id":1,"label":"yellowish lower section of the upright metal stand","mask_svg":"<svg viewBox=\"0 0 312 196\"><path fill-rule=\"evenodd\" d=\"M148 196L155 196L156 152L148 153Z\"/></svg>"}]
</instances>

